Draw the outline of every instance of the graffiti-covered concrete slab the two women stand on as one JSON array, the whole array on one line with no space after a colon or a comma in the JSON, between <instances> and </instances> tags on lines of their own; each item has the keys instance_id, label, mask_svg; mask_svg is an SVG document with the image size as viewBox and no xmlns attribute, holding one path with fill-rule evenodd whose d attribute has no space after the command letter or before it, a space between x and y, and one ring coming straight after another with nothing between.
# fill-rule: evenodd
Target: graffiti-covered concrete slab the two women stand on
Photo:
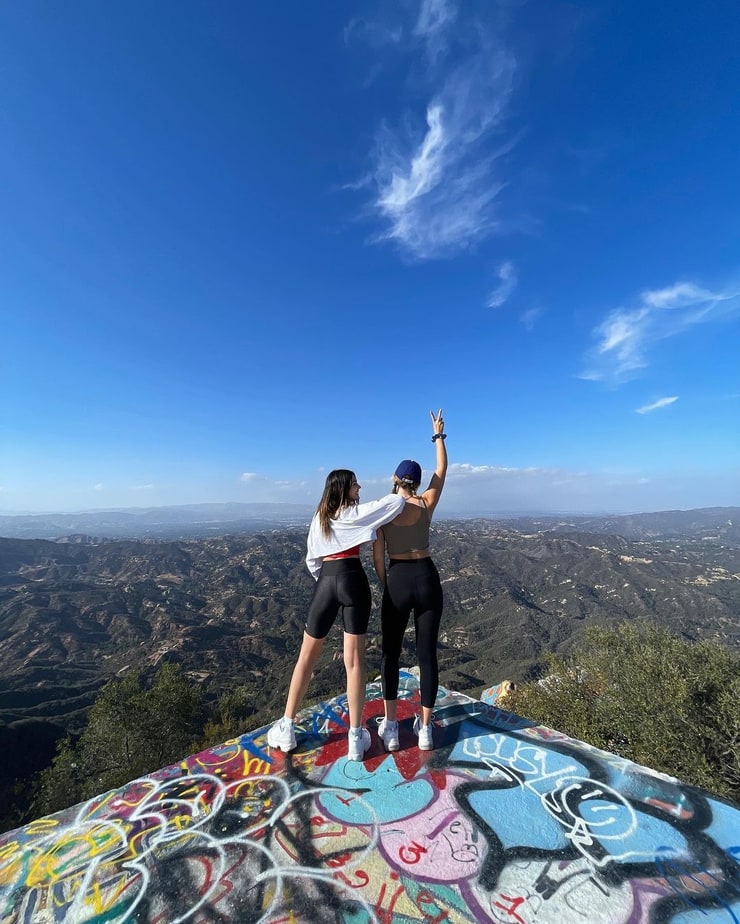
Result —
<instances>
[{"instance_id":1,"label":"graffiti-covered concrete slab the two women stand on","mask_svg":"<svg viewBox=\"0 0 740 924\"><path fill-rule=\"evenodd\" d=\"M437 749L375 732L346 760L345 703L302 714L0 837L0 921L730 924L740 810L466 696Z\"/></svg>"}]
</instances>

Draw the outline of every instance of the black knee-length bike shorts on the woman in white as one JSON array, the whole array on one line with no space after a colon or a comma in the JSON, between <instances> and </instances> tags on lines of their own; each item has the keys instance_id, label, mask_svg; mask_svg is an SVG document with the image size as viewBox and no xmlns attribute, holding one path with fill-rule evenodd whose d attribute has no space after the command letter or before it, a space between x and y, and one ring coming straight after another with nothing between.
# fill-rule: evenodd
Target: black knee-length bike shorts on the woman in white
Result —
<instances>
[{"instance_id":1,"label":"black knee-length bike shorts on the woman in white","mask_svg":"<svg viewBox=\"0 0 740 924\"><path fill-rule=\"evenodd\" d=\"M372 596L359 558L335 558L321 566L306 617L306 633L326 638L339 615L349 635L365 635Z\"/></svg>"}]
</instances>

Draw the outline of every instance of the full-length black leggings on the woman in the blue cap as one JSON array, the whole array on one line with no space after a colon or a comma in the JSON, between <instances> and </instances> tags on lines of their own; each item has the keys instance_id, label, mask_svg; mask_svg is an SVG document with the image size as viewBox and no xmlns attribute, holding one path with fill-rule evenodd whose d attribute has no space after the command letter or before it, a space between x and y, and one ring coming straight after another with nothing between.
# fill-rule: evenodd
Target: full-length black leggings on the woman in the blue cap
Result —
<instances>
[{"instance_id":1,"label":"full-length black leggings on the woman in the blue cap","mask_svg":"<svg viewBox=\"0 0 740 924\"><path fill-rule=\"evenodd\" d=\"M398 699L398 662L411 610L414 611L421 704L432 709L439 687L437 639L442 619L442 585L431 558L416 561L391 559L388 566L380 615L383 628L383 657L380 662L383 699Z\"/></svg>"}]
</instances>

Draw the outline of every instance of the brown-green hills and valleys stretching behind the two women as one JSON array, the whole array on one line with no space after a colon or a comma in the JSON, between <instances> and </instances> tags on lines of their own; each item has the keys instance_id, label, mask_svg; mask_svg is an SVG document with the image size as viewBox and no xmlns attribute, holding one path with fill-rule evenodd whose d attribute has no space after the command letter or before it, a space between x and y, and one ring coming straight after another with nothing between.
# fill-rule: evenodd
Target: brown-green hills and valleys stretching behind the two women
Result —
<instances>
[{"instance_id":1,"label":"brown-green hills and valleys stretching behind the two women","mask_svg":"<svg viewBox=\"0 0 740 924\"><path fill-rule=\"evenodd\" d=\"M477 693L523 680L594 621L652 619L687 638L740 646L736 523L739 508L435 521L443 681ZM304 552L304 526L274 524L177 541L0 539L0 719L79 729L107 679L174 661L210 695L253 685L256 719L267 721L285 695L313 590ZM372 576L369 550L363 556ZM407 644L413 663L411 633ZM312 691L333 695L342 683L335 627Z\"/></svg>"}]
</instances>

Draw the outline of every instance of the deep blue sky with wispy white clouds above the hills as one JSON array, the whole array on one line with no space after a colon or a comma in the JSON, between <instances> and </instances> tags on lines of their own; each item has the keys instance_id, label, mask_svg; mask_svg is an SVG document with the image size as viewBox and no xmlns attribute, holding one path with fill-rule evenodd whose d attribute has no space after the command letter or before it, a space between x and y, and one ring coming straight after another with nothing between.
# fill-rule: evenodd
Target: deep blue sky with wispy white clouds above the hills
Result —
<instances>
[{"instance_id":1,"label":"deep blue sky with wispy white clouds above the hills","mask_svg":"<svg viewBox=\"0 0 740 924\"><path fill-rule=\"evenodd\" d=\"M0 5L0 511L740 497L740 16Z\"/></svg>"}]
</instances>

